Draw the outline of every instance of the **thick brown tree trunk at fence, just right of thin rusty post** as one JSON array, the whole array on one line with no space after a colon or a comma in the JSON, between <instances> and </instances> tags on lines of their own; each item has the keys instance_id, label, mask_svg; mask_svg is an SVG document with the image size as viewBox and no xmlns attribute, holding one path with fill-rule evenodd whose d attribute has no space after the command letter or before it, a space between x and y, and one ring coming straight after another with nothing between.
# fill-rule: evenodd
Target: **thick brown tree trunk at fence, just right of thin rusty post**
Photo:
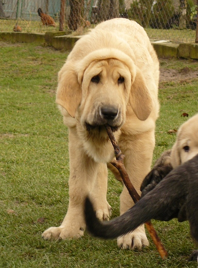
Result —
<instances>
[{"instance_id":1,"label":"thick brown tree trunk at fence, just right of thin rusty post","mask_svg":"<svg viewBox=\"0 0 198 268\"><path fill-rule=\"evenodd\" d=\"M68 19L68 27L70 30L76 31L81 24L81 14L83 13L84 1L69 0L70 15Z\"/></svg>"}]
</instances>

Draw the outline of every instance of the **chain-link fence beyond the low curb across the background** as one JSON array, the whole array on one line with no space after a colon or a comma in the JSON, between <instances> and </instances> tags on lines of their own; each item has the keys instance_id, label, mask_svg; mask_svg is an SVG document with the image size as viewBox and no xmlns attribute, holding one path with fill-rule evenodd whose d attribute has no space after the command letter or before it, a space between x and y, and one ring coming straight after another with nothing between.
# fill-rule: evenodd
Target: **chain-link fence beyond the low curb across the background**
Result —
<instances>
[{"instance_id":1,"label":"chain-link fence beyond the low curb across the background","mask_svg":"<svg viewBox=\"0 0 198 268\"><path fill-rule=\"evenodd\" d=\"M0 0L0 31L18 25L24 32L79 35L118 17L136 20L153 40L195 42L198 0Z\"/></svg>"}]
</instances>

